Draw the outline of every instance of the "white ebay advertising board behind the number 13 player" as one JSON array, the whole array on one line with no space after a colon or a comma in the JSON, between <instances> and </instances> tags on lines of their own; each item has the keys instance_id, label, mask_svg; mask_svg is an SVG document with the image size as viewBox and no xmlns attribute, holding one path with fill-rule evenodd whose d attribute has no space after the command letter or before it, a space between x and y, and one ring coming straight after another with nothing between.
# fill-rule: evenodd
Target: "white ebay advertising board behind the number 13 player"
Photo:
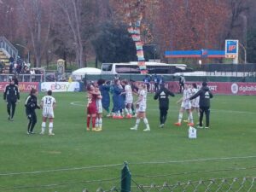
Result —
<instances>
[{"instance_id":1,"label":"white ebay advertising board behind the number 13 player","mask_svg":"<svg viewBox=\"0 0 256 192\"><path fill-rule=\"evenodd\" d=\"M44 82L41 84L41 91L52 90L53 92L73 92L80 90L79 82Z\"/></svg>"}]
</instances>

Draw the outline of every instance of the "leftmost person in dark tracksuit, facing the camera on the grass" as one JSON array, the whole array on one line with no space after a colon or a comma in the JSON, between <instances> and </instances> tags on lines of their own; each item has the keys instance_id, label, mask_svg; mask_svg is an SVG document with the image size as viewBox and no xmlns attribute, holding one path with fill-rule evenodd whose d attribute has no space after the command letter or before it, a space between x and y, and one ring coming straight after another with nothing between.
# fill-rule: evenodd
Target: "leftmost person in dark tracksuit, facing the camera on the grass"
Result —
<instances>
[{"instance_id":1,"label":"leftmost person in dark tracksuit, facing the camera on the grass","mask_svg":"<svg viewBox=\"0 0 256 192\"><path fill-rule=\"evenodd\" d=\"M20 91L18 86L15 84L15 79L10 79L10 83L5 87L3 93L3 100L7 102L7 113L9 114L8 119L13 121L15 115L16 102L20 101Z\"/></svg>"}]
</instances>

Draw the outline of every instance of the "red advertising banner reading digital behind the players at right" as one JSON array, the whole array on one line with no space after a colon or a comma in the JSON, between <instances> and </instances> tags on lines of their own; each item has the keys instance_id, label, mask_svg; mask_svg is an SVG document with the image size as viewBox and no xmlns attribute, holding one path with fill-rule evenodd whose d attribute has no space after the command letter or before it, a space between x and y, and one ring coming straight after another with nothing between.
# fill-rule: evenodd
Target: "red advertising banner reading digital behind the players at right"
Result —
<instances>
[{"instance_id":1,"label":"red advertising banner reading digital behind the players at right","mask_svg":"<svg viewBox=\"0 0 256 192\"><path fill-rule=\"evenodd\" d=\"M142 84L143 82L136 82ZM197 84L201 88L201 82L186 82L186 84ZM256 96L256 83L241 82L207 82L208 87L213 94L239 95L239 96ZM179 84L177 81L166 82L166 88L174 93L179 92ZM149 92L154 92L154 84L149 84Z\"/></svg>"}]
</instances>

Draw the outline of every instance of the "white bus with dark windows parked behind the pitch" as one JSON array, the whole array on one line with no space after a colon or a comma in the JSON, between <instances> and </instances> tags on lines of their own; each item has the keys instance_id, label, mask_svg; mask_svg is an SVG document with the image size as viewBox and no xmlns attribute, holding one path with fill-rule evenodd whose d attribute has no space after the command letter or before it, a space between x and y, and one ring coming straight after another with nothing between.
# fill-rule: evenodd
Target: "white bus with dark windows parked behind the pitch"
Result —
<instances>
[{"instance_id":1,"label":"white bus with dark windows parked behind the pitch","mask_svg":"<svg viewBox=\"0 0 256 192\"><path fill-rule=\"evenodd\" d=\"M161 62L146 62L148 74L174 74L191 72L186 64L166 64ZM102 74L139 74L137 62L102 63Z\"/></svg>"}]
</instances>

